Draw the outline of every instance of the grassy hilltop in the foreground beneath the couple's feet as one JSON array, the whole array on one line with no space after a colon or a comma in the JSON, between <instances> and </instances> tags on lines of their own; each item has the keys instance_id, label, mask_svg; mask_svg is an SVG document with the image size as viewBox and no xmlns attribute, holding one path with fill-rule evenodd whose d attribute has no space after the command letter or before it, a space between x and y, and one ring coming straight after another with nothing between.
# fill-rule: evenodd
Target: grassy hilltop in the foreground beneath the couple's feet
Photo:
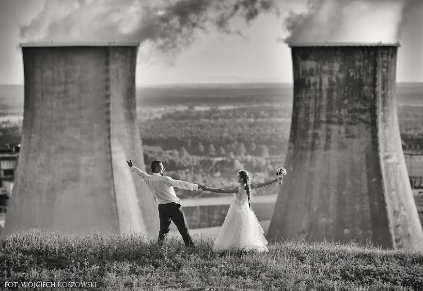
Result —
<instances>
[{"instance_id":1,"label":"grassy hilltop in the foreground beneath the couple's feet","mask_svg":"<svg viewBox=\"0 0 423 291\"><path fill-rule=\"evenodd\" d=\"M158 248L135 234L16 233L0 237L0 289L96 282L85 290L423 290L423 252L293 240L269 244L268 254L218 255L212 243L187 249L176 237Z\"/></svg>"}]
</instances>

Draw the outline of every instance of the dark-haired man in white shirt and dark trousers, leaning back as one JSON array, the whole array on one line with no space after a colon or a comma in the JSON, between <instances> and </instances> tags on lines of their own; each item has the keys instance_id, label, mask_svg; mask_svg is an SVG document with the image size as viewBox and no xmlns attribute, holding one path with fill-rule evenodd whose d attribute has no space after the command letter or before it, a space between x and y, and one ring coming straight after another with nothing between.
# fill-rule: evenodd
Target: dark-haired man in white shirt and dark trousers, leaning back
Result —
<instances>
[{"instance_id":1,"label":"dark-haired man in white shirt and dark trousers, leaning back","mask_svg":"<svg viewBox=\"0 0 423 291\"><path fill-rule=\"evenodd\" d=\"M153 192L158 203L158 214L160 218L160 231L158 233L158 245L163 245L165 236L169 233L169 226L171 221L178 227L179 233L185 245L193 247L194 242L189 235L188 225L185 222L184 212L179 208L181 205L177 203L179 198L176 197L173 187L187 190L203 190L204 185L193 184L181 180L174 180L169 176L163 176L165 170L161 161L154 161L151 163L151 170L153 175L141 171L135 167L131 160L126 161L132 172L140 176L147 184L150 191Z\"/></svg>"}]
</instances>

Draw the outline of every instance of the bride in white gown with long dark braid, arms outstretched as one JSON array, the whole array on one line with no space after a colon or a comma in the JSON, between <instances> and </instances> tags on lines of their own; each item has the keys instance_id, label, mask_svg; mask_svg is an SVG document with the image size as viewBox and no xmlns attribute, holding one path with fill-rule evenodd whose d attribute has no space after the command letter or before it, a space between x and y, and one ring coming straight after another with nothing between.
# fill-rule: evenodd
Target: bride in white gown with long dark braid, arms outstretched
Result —
<instances>
[{"instance_id":1,"label":"bride in white gown with long dark braid, arms outstretched","mask_svg":"<svg viewBox=\"0 0 423 291\"><path fill-rule=\"evenodd\" d=\"M236 176L238 187L228 189L203 188L204 191L216 193L234 193L234 200L220 228L213 250L222 253L227 250L268 252L267 240L257 217L251 210L251 191L278 182L278 179L259 184L250 184L247 171L239 171Z\"/></svg>"}]
</instances>

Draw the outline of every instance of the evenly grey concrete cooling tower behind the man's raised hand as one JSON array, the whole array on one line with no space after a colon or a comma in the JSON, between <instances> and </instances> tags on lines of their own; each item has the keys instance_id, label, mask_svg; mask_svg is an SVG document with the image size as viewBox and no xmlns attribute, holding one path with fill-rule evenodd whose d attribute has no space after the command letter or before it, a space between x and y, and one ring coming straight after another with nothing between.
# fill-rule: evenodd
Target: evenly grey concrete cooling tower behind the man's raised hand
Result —
<instances>
[{"instance_id":1,"label":"evenly grey concrete cooling tower behind the man's raised hand","mask_svg":"<svg viewBox=\"0 0 423 291\"><path fill-rule=\"evenodd\" d=\"M24 44L22 142L5 232L158 231L135 104L138 43Z\"/></svg>"}]
</instances>

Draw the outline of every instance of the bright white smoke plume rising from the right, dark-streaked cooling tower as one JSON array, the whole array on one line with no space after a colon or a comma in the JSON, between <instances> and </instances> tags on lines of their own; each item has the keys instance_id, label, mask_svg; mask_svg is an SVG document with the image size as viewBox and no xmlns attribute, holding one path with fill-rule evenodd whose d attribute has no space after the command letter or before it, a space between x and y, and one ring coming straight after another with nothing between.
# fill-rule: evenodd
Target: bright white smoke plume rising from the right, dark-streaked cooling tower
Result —
<instances>
[{"instance_id":1,"label":"bright white smoke plume rising from the right, dark-streaked cooling tower","mask_svg":"<svg viewBox=\"0 0 423 291\"><path fill-rule=\"evenodd\" d=\"M398 41L407 0L309 0L306 13L289 12L285 43Z\"/></svg>"}]
</instances>

